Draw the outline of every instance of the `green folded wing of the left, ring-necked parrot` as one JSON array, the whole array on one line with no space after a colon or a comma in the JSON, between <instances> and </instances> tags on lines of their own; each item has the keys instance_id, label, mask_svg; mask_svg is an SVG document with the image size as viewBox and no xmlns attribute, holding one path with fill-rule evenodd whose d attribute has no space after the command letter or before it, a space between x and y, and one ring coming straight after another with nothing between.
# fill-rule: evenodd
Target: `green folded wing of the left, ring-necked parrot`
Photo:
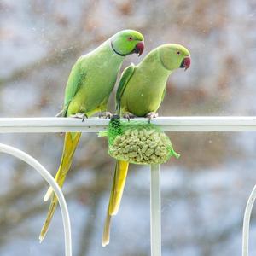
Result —
<instances>
[{"instance_id":1,"label":"green folded wing of the left, ring-necked parrot","mask_svg":"<svg viewBox=\"0 0 256 256\"><path fill-rule=\"evenodd\" d=\"M70 102L73 100L73 97L84 83L86 73L84 72L84 68L81 67L82 61L84 61L83 56L81 56L79 60L76 61L76 63L73 65L72 71L68 77L62 116L67 116L67 108Z\"/></svg>"}]
</instances>

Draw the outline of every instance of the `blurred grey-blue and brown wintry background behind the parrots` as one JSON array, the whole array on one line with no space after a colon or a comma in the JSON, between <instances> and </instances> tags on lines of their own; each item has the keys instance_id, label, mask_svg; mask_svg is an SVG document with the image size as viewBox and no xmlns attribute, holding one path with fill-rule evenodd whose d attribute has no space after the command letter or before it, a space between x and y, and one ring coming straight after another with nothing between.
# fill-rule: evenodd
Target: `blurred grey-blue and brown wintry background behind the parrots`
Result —
<instances>
[{"instance_id":1,"label":"blurred grey-blue and brown wintry background behind the parrots","mask_svg":"<svg viewBox=\"0 0 256 256\"><path fill-rule=\"evenodd\" d=\"M169 79L160 115L256 115L253 0L0 0L0 116L54 116L74 61L125 28L143 32L143 56L164 43L190 50L192 65ZM140 60L131 55L122 68ZM162 166L163 256L241 255L243 212L256 183L256 133L169 135L182 157ZM1 134L0 142L55 174L59 134ZM104 138L84 134L64 186L73 255L149 255L150 173L142 166L130 168L111 243L102 248L114 166L107 150ZM59 209L38 243L47 184L12 157L1 154L0 163L0 255L63 256ZM250 255L256 253L253 212Z\"/></svg>"}]
</instances>

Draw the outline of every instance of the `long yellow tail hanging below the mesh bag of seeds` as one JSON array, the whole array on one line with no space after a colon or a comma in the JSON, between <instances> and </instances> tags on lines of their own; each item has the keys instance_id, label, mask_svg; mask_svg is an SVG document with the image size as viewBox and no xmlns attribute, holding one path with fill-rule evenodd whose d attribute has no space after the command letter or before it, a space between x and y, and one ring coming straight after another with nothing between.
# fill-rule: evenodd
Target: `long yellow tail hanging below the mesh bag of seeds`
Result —
<instances>
[{"instance_id":1,"label":"long yellow tail hanging below the mesh bag of seeds","mask_svg":"<svg viewBox=\"0 0 256 256\"><path fill-rule=\"evenodd\" d=\"M116 215L119 211L120 202L125 188L128 166L128 162L120 160L118 160L115 165L113 184L108 203L108 212L102 236L102 247L105 247L109 243L111 217Z\"/></svg>"}]
</instances>

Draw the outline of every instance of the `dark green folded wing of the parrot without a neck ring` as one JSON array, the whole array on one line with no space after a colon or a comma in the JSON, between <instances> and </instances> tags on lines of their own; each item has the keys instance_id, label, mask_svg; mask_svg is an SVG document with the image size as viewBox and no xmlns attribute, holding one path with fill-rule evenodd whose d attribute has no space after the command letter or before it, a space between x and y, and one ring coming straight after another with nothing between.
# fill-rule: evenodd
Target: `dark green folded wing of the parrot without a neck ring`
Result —
<instances>
[{"instance_id":1,"label":"dark green folded wing of the parrot without a neck ring","mask_svg":"<svg viewBox=\"0 0 256 256\"><path fill-rule=\"evenodd\" d=\"M116 96L115 96L115 108L119 114L120 114L121 98L123 96L123 93L125 91L125 87L126 87L127 83L129 82L132 74L134 73L134 70L135 70L135 65L133 63L131 63L131 65L129 67L125 68L124 72L122 73L121 79L119 81L119 87L118 87L118 90L117 90Z\"/></svg>"}]
</instances>

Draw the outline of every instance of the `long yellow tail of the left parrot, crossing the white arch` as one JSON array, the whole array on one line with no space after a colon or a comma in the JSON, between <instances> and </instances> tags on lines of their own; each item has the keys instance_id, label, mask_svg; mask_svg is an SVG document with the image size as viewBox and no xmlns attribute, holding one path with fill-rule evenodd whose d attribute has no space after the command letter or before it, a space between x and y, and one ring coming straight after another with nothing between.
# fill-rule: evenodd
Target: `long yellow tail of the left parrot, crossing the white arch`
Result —
<instances>
[{"instance_id":1,"label":"long yellow tail of the left parrot, crossing the white arch","mask_svg":"<svg viewBox=\"0 0 256 256\"><path fill-rule=\"evenodd\" d=\"M65 135L64 148L63 148L62 157L61 157L61 164L60 164L59 170L55 176L55 181L56 181L56 183L59 184L60 187L62 187L62 185L65 181L65 178L67 176L67 172L70 169L70 166L71 166L72 160L73 160L73 154L77 148L80 137L81 137L81 132L76 132L76 133L67 132ZM55 208L58 205L58 200L57 200L56 195L54 194L54 191L51 187L49 187L47 193L44 195L44 201L48 201L50 197L51 197L51 202L50 202L50 206L49 206L49 211L47 213L47 217L44 222L44 226L43 226L40 236L39 236L40 241L44 240L44 236L46 235L46 233L49 229L50 221L53 218Z\"/></svg>"}]
</instances>

